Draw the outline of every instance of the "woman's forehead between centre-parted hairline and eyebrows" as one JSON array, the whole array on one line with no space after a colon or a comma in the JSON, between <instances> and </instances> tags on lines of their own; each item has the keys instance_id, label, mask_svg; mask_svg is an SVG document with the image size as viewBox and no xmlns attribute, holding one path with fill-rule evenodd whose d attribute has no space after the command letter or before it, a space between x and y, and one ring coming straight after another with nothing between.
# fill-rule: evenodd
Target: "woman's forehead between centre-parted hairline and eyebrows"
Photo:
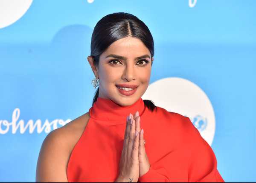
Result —
<instances>
[{"instance_id":1,"label":"woman's forehead between centre-parted hairline and eyebrows","mask_svg":"<svg viewBox=\"0 0 256 183\"><path fill-rule=\"evenodd\" d=\"M150 51L143 42L135 37L124 37L113 42L101 55L105 58L109 54L117 54L125 57L140 57Z\"/></svg>"}]
</instances>

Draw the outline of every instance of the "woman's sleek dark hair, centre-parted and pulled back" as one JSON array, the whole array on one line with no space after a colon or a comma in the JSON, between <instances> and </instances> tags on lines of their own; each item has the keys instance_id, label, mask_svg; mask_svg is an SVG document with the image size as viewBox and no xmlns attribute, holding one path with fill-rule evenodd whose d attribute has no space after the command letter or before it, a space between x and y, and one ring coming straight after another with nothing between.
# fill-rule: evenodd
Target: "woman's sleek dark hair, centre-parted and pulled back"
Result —
<instances>
[{"instance_id":1,"label":"woman's sleek dark hair, centre-parted and pulled back","mask_svg":"<svg viewBox=\"0 0 256 183\"><path fill-rule=\"evenodd\" d=\"M128 36L140 39L150 51L151 58L154 56L154 40L145 23L133 14L117 12L102 17L93 29L90 56L93 57L94 65L99 66L99 56L108 46ZM152 61L151 64L153 64ZM99 87L93 97L93 103L98 97ZM143 100L143 102L151 111L156 109L151 100Z\"/></svg>"}]
</instances>

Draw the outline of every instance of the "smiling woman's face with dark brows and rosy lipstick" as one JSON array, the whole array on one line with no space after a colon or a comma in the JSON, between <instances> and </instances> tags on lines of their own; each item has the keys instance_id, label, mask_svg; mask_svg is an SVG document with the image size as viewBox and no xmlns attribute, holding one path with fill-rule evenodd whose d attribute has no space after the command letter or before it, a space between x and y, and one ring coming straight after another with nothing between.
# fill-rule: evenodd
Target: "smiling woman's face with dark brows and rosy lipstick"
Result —
<instances>
[{"instance_id":1,"label":"smiling woman's face with dark brows and rosy lipstick","mask_svg":"<svg viewBox=\"0 0 256 183\"><path fill-rule=\"evenodd\" d=\"M148 88L151 59L150 51L138 38L125 37L113 42L99 57L99 97L121 106L135 103Z\"/></svg>"}]
</instances>

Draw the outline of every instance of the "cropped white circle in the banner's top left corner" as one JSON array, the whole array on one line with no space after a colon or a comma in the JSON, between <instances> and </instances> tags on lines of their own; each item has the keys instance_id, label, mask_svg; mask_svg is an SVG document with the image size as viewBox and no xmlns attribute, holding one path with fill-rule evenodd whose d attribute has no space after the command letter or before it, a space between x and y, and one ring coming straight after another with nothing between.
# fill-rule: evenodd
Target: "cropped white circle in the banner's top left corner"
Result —
<instances>
[{"instance_id":1,"label":"cropped white circle in the banner's top left corner","mask_svg":"<svg viewBox=\"0 0 256 183\"><path fill-rule=\"evenodd\" d=\"M33 0L0 0L0 29L19 20Z\"/></svg>"}]
</instances>

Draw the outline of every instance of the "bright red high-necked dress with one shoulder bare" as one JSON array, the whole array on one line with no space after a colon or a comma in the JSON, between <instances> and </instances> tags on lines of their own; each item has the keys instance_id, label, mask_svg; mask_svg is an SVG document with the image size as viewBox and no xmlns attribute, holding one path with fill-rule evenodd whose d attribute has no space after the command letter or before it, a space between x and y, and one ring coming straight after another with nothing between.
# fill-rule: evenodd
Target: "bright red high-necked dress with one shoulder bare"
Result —
<instances>
[{"instance_id":1,"label":"bright red high-necked dress with one shoulder bare","mask_svg":"<svg viewBox=\"0 0 256 183\"><path fill-rule=\"evenodd\" d=\"M138 182L224 182L212 148L188 117L157 106L151 112L139 98L119 106L98 97L67 165L69 182L114 182L119 175L126 117L139 111L151 164Z\"/></svg>"}]
</instances>

